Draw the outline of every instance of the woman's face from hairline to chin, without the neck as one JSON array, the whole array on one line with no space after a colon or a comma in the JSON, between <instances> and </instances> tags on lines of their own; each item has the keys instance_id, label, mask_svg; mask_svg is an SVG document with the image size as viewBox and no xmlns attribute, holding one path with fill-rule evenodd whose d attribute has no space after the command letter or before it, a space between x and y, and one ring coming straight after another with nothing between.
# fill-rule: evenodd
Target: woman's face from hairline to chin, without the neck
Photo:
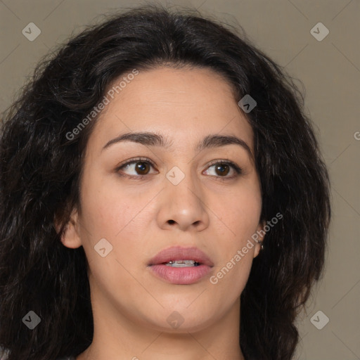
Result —
<instances>
[{"instance_id":1,"label":"woman's face from hairline to chin, without the neck","mask_svg":"<svg viewBox=\"0 0 360 360\"><path fill-rule=\"evenodd\" d=\"M262 229L262 199L250 124L229 84L207 69L140 71L117 91L89 137L81 211L63 238L86 252L94 319L168 332L214 326L238 314L259 252L251 238ZM119 141L123 134L132 140ZM172 247L198 248L210 262L151 262Z\"/></svg>"}]
</instances>

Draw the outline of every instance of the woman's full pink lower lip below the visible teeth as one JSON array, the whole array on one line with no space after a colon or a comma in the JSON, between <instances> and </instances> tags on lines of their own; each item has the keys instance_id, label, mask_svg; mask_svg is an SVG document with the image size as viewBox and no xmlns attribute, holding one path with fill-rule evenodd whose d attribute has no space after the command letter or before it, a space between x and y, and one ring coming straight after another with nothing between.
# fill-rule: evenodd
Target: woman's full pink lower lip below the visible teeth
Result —
<instances>
[{"instance_id":1,"label":"woman's full pink lower lip below the visible teeth","mask_svg":"<svg viewBox=\"0 0 360 360\"><path fill-rule=\"evenodd\" d=\"M150 269L156 276L176 285L189 285L196 283L211 271L211 267L207 265L172 267L164 264L158 264L151 265Z\"/></svg>"}]
</instances>

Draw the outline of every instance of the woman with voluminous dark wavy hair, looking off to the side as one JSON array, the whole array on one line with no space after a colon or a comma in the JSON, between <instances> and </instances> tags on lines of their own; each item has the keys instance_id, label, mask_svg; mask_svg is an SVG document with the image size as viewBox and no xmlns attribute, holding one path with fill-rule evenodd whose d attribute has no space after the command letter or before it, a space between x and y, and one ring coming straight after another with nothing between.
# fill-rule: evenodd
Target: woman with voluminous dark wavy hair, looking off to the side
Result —
<instances>
[{"instance_id":1,"label":"woman with voluminous dark wavy hair, looking off to the side","mask_svg":"<svg viewBox=\"0 0 360 360\"><path fill-rule=\"evenodd\" d=\"M7 359L292 358L328 172L250 41L160 6L115 15L38 68L1 130Z\"/></svg>"}]
</instances>

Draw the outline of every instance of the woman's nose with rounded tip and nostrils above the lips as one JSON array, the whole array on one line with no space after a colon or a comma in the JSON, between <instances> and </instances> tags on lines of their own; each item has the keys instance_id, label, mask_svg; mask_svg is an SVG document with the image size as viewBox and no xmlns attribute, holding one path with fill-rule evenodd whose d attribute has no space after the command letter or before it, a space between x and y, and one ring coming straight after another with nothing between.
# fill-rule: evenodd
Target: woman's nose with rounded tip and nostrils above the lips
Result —
<instances>
[{"instance_id":1,"label":"woman's nose with rounded tip and nostrils above the lips","mask_svg":"<svg viewBox=\"0 0 360 360\"><path fill-rule=\"evenodd\" d=\"M209 226L209 221L204 192L190 174L186 174L177 185L165 179L158 212L160 228L203 231Z\"/></svg>"}]
</instances>

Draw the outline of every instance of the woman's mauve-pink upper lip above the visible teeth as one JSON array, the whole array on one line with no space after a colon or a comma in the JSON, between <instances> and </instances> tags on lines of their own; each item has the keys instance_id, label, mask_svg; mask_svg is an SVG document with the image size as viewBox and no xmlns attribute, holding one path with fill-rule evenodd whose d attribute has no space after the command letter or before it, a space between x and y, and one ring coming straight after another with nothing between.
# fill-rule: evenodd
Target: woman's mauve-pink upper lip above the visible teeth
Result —
<instances>
[{"instance_id":1,"label":"woman's mauve-pink upper lip above the visible teeth","mask_svg":"<svg viewBox=\"0 0 360 360\"><path fill-rule=\"evenodd\" d=\"M161 250L155 257L150 259L148 266L164 264L170 260L195 260L195 262L199 262L200 264L214 266L205 252L195 247L181 248L181 246L173 246L172 248Z\"/></svg>"}]
</instances>

